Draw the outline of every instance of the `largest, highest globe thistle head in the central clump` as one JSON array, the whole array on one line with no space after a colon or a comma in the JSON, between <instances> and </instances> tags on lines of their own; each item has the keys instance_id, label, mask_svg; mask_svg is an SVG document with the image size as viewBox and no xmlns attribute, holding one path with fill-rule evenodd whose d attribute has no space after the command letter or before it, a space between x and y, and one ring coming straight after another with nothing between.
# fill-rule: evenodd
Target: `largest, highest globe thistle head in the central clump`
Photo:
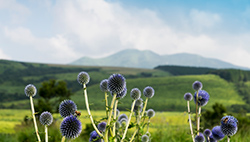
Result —
<instances>
[{"instance_id":1,"label":"largest, highest globe thistle head in the central clump","mask_svg":"<svg viewBox=\"0 0 250 142\"><path fill-rule=\"evenodd\" d=\"M126 80L121 74L112 74L108 79L108 89L112 93L121 93L126 87Z\"/></svg>"}]
</instances>

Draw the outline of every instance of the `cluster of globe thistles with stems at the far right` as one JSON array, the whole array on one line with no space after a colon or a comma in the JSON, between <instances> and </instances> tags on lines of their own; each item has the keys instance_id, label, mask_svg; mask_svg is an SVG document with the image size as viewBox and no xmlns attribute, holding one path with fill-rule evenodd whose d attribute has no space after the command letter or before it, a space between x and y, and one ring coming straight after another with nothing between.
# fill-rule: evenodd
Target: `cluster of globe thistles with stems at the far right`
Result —
<instances>
[{"instance_id":1,"label":"cluster of globe thistles with stems at the far right","mask_svg":"<svg viewBox=\"0 0 250 142\"><path fill-rule=\"evenodd\" d=\"M193 142L216 142L222 140L225 136L227 136L227 141L230 141L230 137L233 136L238 129L238 120L233 116L224 116L221 119L221 124L218 126L213 127L212 131L209 129L205 129L203 133L200 132L200 116L201 116L201 107L205 106L209 99L210 95L205 91L202 90L202 83L200 81L195 81L192 85L193 89L196 91L194 96L191 93L185 93L184 99L187 101L187 108L188 108L188 120L190 125L190 131ZM196 128L194 130L192 128L191 122L191 111L189 102L192 101L194 98L194 103L196 106Z\"/></svg>"}]
</instances>

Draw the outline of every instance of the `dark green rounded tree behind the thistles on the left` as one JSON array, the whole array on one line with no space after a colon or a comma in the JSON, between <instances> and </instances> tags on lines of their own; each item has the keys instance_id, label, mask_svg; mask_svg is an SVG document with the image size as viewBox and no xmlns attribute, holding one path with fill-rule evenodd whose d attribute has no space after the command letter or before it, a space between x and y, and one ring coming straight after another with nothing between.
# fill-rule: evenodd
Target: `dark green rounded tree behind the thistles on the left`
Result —
<instances>
[{"instance_id":1,"label":"dark green rounded tree behind the thistles on the left","mask_svg":"<svg viewBox=\"0 0 250 142\"><path fill-rule=\"evenodd\" d=\"M65 81L51 79L42 83L42 86L38 90L38 95L40 98L35 108L38 114L40 114L43 111L58 112L61 101L70 99L70 96L73 94L71 90L67 88Z\"/></svg>"}]
</instances>

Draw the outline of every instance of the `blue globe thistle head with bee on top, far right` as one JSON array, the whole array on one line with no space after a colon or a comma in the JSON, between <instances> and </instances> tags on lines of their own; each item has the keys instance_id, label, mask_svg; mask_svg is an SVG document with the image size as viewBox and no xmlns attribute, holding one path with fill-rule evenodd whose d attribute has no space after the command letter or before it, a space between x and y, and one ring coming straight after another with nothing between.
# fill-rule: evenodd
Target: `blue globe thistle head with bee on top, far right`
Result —
<instances>
[{"instance_id":1,"label":"blue globe thistle head with bee on top, far right","mask_svg":"<svg viewBox=\"0 0 250 142\"><path fill-rule=\"evenodd\" d=\"M232 136L237 132L238 120L233 116L224 116L221 119L220 127L224 135Z\"/></svg>"}]
</instances>

